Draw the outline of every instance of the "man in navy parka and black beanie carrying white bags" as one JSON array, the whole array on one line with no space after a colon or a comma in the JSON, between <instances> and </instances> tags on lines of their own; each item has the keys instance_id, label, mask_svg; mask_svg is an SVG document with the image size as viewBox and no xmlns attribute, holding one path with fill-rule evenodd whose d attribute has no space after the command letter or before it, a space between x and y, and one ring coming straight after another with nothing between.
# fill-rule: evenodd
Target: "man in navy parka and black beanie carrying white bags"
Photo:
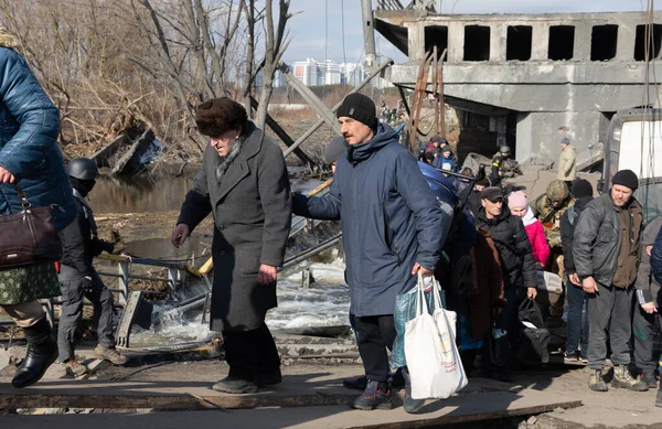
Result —
<instances>
[{"instance_id":1,"label":"man in navy parka and black beanie carrying white bags","mask_svg":"<svg viewBox=\"0 0 662 429\"><path fill-rule=\"evenodd\" d=\"M374 103L351 94L337 112L346 152L338 161L329 193L295 195L293 213L318 219L341 219L345 279L355 315L359 352L367 386L352 407L389 409L388 355L396 336L396 296L416 286L417 274L431 275L439 260L442 215L416 159L393 129L380 124ZM405 375L405 410L421 400L410 397Z\"/></svg>"}]
</instances>

